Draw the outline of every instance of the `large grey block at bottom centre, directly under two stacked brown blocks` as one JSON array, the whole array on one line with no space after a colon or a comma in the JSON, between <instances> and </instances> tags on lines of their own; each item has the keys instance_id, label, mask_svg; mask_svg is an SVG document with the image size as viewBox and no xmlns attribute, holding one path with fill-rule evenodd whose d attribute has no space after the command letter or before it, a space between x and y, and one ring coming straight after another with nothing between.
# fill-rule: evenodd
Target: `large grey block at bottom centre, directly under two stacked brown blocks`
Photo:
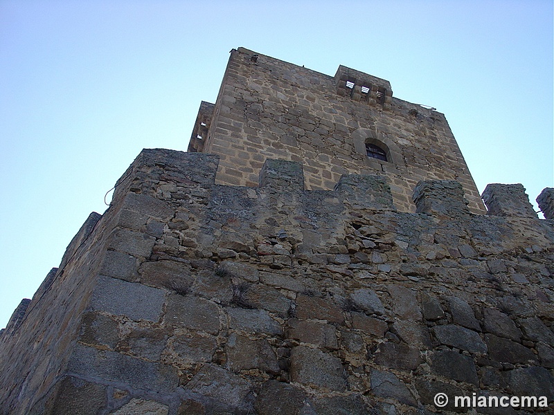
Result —
<instances>
[{"instance_id":1,"label":"large grey block at bottom centre, directly under two stacked brown blocks","mask_svg":"<svg viewBox=\"0 0 554 415\"><path fill-rule=\"evenodd\" d=\"M346 374L341 360L318 349L304 346L292 349L290 376L293 382L306 386L346 390Z\"/></svg>"}]
</instances>

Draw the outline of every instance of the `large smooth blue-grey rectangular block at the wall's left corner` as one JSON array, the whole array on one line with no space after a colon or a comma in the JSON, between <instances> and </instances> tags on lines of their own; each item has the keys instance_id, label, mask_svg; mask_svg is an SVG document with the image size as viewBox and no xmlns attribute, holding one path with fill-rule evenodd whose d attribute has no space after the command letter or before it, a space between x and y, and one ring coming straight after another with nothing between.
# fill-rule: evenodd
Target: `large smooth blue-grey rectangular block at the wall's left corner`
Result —
<instances>
[{"instance_id":1,"label":"large smooth blue-grey rectangular block at the wall's left corner","mask_svg":"<svg viewBox=\"0 0 554 415\"><path fill-rule=\"evenodd\" d=\"M157 322L166 294L152 287L120 279L99 277L93 292L91 308L115 315L125 315L132 320Z\"/></svg>"}]
</instances>

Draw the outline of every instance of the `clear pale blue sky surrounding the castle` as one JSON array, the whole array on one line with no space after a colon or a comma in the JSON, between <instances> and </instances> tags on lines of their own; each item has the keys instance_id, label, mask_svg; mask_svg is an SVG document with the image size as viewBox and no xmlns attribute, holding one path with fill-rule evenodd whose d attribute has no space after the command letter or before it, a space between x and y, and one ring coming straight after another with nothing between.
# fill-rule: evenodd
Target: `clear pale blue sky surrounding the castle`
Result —
<instances>
[{"instance_id":1,"label":"clear pale blue sky surrounding the castle","mask_svg":"<svg viewBox=\"0 0 554 415\"><path fill-rule=\"evenodd\" d=\"M238 46L436 107L481 192L554 186L552 0L0 0L0 327L141 149L186 150Z\"/></svg>"}]
</instances>

